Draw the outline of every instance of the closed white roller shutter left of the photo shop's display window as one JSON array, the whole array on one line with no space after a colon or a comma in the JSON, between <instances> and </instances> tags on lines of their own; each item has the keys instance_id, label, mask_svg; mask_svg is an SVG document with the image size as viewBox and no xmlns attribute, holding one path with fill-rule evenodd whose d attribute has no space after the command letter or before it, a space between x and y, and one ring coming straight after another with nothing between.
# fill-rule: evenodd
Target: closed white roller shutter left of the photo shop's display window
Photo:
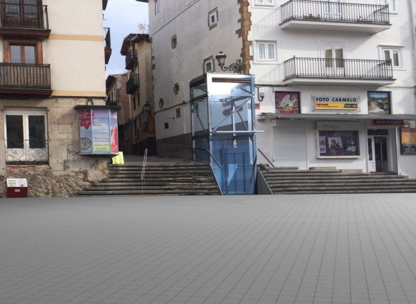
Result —
<instances>
[{"instance_id":1,"label":"closed white roller shutter left of the photo shop's display window","mask_svg":"<svg viewBox=\"0 0 416 304\"><path fill-rule=\"evenodd\" d=\"M306 129L304 127L275 127L274 133L274 165L307 170Z\"/></svg>"}]
</instances>

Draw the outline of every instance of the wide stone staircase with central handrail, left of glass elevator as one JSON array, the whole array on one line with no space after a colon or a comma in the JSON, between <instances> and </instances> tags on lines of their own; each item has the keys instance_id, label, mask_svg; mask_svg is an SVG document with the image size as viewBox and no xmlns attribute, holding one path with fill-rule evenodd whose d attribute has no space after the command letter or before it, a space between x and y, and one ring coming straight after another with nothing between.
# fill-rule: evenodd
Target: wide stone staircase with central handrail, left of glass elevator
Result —
<instances>
[{"instance_id":1,"label":"wide stone staircase with central handrail, left of glass elevator","mask_svg":"<svg viewBox=\"0 0 416 304\"><path fill-rule=\"evenodd\" d=\"M109 177L78 196L221 195L211 167L196 161L148 162L144 179L137 163L108 165Z\"/></svg>"}]
</instances>

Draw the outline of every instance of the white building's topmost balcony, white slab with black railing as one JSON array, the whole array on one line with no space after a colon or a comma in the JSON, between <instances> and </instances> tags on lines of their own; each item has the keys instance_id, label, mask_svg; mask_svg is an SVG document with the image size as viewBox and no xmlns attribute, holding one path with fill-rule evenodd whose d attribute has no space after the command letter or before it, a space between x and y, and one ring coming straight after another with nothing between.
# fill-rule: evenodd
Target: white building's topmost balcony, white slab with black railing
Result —
<instances>
[{"instance_id":1,"label":"white building's topmost balcony, white slab with black railing","mask_svg":"<svg viewBox=\"0 0 416 304\"><path fill-rule=\"evenodd\" d=\"M280 8L281 28L379 33L391 26L388 6L291 0Z\"/></svg>"}]
</instances>

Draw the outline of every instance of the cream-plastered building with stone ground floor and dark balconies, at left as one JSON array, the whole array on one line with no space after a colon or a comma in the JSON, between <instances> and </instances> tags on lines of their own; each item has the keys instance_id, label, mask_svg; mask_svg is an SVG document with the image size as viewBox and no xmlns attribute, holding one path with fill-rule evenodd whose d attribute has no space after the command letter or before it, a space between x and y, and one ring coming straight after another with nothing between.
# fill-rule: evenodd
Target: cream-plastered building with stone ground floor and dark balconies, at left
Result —
<instances>
[{"instance_id":1,"label":"cream-plastered building with stone ground floor and dark balconies, at left","mask_svg":"<svg viewBox=\"0 0 416 304\"><path fill-rule=\"evenodd\" d=\"M83 153L96 143L80 139L105 111L106 5L0 1L0 196L7 178L26 178L31 197L64 197L107 175L109 144Z\"/></svg>"}]
</instances>

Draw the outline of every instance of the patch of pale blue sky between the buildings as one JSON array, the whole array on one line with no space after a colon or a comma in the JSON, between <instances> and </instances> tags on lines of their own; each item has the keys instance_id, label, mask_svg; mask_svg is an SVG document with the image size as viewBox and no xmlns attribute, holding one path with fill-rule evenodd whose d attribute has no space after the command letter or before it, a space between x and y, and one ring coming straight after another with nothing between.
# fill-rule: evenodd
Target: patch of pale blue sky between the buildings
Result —
<instances>
[{"instance_id":1,"label":"patch of pale blue sky between the buildings","mask_svg":"<svg viewBox=\"0 0 416 304\"><path fill-rule=\"evenodd\" d=\"M139 24L149 24L148 3L135 0L109 0L103 11L104 27L110 28L112 54L105 76L125 73L125 56L120 54L124 37L139 33Z\"/></svg>"}]
</instances>

